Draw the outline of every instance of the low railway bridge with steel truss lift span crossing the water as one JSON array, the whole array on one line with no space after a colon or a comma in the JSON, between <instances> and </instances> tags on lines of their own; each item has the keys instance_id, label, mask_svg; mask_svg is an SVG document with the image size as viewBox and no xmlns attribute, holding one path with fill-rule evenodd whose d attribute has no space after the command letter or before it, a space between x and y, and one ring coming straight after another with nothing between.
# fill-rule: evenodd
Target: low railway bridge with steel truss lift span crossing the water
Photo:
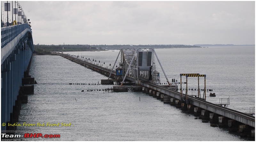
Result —
<instances>
[{"instance_id":1,"label":"low railway bridge with steel truss lift span crossing the water","mask_svg":"<svg viewBox=\"0 0 256 142\"><path fill-rule=\"evenodd\" d=\"M102 79L105 82L109 81L107 84L113 84L113 81L118 82L120 86L113 86L113 90L116 92L127 91L128 88L133 89L140 86L144 93L156 97L157 99L161 99L161 101L164 101L164 103L170 103L171 105L174 104L177 108L181 108L189 113L194 113L195 116L202 116L202 119L207 119L210 120L210 122L218 123L219 127L228 127L229 131L239 131L240 136L242 137L248 135L255 137L255 116L223 107L220 104L213 104L206 101L206 75L201 75L199 73L180 74L180 84L182 76L186 76L186 80L188 77L197 77L198 84L199 77L204 77L204 93L202 98L199 86L198 95L188 95L187 87L186 94L182 93L181 86L180 92L178 92L177 84L172 85L168 81L168 78L166 77L163 67L153 48L122 48L119 51L116 62L111 70L89 63L88 60L81 60L76 57L71 57L69 55L60 53L55 54L63 56L73 62L108 76L108 79ZM156 71L157 62L165 75L168 85L160 85L161 82L159 80L159 72ZM110 78L114 78L114 80ZM102 80L101 84L104 84ZM131 82L134 85L127 86L124 85L124 82ZM187 83L188 81L186 81L186 84Z\"/></svg>"}]
</instances>

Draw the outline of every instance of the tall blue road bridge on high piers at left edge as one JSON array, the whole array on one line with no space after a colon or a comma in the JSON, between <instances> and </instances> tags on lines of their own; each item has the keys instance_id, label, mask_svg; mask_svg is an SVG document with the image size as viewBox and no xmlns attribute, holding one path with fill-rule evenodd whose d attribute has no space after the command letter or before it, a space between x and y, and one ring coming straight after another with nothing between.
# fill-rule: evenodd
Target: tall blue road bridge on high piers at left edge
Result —
<instances>
[{"instance_id":1,"label":"tall blue road bridge on high piers at left edge","mask_svg":"<svg viewBox=\"0 0 256 142\"><path fill-rule=\"evenodd\" d=\"M27 20L26 20L27 21ZM32 31L28 22L1 27L1 130L13 132L19 121L21 103L34 93L34 78L29 66L34 52Z\"/></svg>"}]
</instances>

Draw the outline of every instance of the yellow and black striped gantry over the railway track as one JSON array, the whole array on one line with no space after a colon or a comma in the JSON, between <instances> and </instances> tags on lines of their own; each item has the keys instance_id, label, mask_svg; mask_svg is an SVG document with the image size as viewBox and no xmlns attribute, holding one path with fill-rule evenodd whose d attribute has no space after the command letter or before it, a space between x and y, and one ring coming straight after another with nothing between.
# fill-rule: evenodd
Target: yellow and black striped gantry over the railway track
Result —
<instances>
[{"instance_id":1,"label":"yellow and black striped gantry over the railway track","mask_svg":"<svg viewBox=\"0 0 256 142\"><path fill-rule=\"evenodd\" d=\"M203 98L206 100L206 86L205 86L205 78L206 75L205 74L199 74L199 73L180 73L180 98L182 98L182 87L181 87L181 77L182 76L186 76L186 100L188 100L188 77L198 77L198 97L200 94L200 90L199 90L199 77L204 77L204 96ZM200 98L201 98L201 94L200 94ZM181 99L182 100L182 99Z\"/></svg>"}]
</instances>

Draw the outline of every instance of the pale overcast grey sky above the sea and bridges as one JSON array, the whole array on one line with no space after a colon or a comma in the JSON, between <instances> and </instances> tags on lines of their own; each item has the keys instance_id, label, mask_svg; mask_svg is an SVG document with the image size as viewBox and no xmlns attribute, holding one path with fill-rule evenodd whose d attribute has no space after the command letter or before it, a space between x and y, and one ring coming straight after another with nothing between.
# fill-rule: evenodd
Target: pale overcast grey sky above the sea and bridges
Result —
<instances>
[{"instance_id":1,"label":"pale overcast grey sky above the sea and bridges","mask_svg":"<svg viewBox=\"0 0 256 142\"><path fill-rule=\"evenodd\" d=\"M255 1L18 2L34 44L255 44Z\"/></svg>"}]
</instances>

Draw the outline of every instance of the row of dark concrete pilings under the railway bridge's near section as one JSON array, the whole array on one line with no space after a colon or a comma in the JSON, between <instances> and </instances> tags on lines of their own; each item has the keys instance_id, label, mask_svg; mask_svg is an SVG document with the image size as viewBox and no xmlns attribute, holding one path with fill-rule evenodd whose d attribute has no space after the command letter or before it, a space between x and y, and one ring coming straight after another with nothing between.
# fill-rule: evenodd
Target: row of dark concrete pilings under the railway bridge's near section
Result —
<instances>
[{"instance_id":1,"label":"row of dark concrete pilings under the railway bridge's near section","mask_svg":"<svg viewBox=\"0 0 256 142\"><path fill-rule=\"evenodd\" d=\"M252 126L240 123L236 120L216 113L212 113L192 104L186 104L186 102L181 102L179 99L147 87L142 87L142 92L156 98L157 100L163 101L165 104L170 104L176 108L180 108L182 111L187 112L188 114L194 114L194 116L196 116L195 119L201 119L203 123L210 122L210 126L212 127L228 128L229 132L237 132L240 134L240 137L255 138L255 128Z\"/></svg>"}]
</instances>

